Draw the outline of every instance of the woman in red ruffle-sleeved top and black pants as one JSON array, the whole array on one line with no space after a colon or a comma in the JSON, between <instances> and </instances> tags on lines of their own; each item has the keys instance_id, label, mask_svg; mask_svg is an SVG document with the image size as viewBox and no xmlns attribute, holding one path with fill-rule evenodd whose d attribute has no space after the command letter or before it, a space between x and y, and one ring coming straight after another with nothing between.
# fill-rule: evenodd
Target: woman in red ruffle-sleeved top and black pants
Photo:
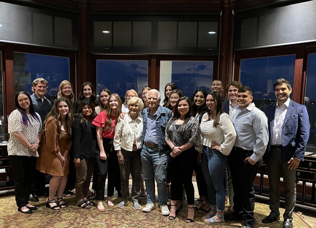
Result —
<instances>
[{"instance_id":1,"label":"woman in red ruffle-sleeved top and black pants","mask_svg":"<svg viewBox=\"0 0 316 228\"><path fill-rule=\"evenodd\" d=\"M118 192L121 190L119 161L113 146L114 129L118 123L119 115L122 112L121 107L121 98L117 93L113 93L109 96L106 110L100 112L100 114L92 121L92 124L97 127L97 142L99 145L98 154L95 156L95 166L97 168L95 198L97 199L97 209L99 211L105 211L102 200L104 200L104 188L107 174L106 203L109 207L114 206L112 202L114 187Z\"/></svg>"}]
</instances>

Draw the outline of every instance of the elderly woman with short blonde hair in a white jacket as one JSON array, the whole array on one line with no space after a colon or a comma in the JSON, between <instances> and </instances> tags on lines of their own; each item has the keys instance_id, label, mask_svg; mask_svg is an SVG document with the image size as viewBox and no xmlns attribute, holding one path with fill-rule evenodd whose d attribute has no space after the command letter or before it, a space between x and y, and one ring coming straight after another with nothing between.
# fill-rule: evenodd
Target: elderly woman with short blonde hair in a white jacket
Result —
<instances>
[{"instance_id":1,"label":"elderly woman with short blonde hair in a white jacket","mask_svg":"<svg viewBox=\"0 0 316 228\"><path fill-rule=\"evenodd\" d=\"M141 98L132 97L127 102L127 106L129 112L125 115L124 120L116 126L113 141L119 160L122 188L122 202L117 207L124 208L128 204L130 195L128 185L131 172L133 207L135 210L139 210L138 198L141 183L140 174L142 171L140 153L143 131L143 117L139 112L143 109L144 104Z\"/></svg>"}]
</instances>

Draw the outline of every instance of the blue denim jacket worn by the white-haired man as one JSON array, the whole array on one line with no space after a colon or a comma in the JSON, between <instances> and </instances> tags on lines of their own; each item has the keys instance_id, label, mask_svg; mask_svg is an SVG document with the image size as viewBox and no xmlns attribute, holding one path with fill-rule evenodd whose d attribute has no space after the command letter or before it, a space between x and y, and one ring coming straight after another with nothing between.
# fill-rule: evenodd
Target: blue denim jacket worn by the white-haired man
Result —
<instances>
[{"instance_id":1,"label":"blue denim jacket worn by the white-haired man","mask_svg":"<svg viewBox=\"0 0 316 228\"><path fill-rule=\"evenodd\" d=\"M145 138L148 112L149 112L149 108L145 108L142 111L142 115L143 115L142 144L144 143L144 138ZM156 132L157 132L157 140L158 140L158 149L160 151L167 149L165 131L166 131L168 121L171 117L172 117L172 113L168 108L162 107L161 105L158 106L157 119L156 119Z\"/></svg>"}]
</instances>

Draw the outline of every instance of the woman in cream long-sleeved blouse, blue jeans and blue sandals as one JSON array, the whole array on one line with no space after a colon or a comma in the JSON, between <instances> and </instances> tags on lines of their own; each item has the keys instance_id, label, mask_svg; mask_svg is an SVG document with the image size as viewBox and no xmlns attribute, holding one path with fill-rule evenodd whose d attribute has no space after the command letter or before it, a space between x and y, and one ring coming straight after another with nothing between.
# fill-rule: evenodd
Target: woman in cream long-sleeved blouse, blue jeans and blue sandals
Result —
<instances>
[{"instance_id":1,"label":"woman in cream long-sleeved blouse, blue jeans and blue sandals","mask_svg":"<svg viewBox=\"0 0 316 228\"><path fill-rule=\"evenodd\" d=\"M203 146L202 171L207 184L210 212L203 216L206 224L225 223L225 167L227 156L234 146L236 132L228 114L223 112L222 99L218 92L209 92L206 97L207 113L200 126Z\"/></svg>"}]
</instances>

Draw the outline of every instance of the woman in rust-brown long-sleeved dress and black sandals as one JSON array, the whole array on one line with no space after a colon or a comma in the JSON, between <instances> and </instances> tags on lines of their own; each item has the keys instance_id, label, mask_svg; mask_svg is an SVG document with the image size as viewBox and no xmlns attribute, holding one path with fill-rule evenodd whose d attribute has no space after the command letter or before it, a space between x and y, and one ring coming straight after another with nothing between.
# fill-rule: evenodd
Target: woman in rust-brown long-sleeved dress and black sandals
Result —
<instances>
[{"instance_id":1,"label":"woman in rust-brown long-sleeved dress and black sandals","mask_svg":"<svg viewBox=\"0 0 316 228\"><path fill-rule=\"evenodd\" d=\"M49 182L46 207L54 210L65 208L63 192L69 174L69 151L71 148L72 106L65 97L58 98L44 122L45 132L39 148L40 157L36 169L53 177ZM57 203L55 193L57 191Z\"/></svg>"}]
</instances>

